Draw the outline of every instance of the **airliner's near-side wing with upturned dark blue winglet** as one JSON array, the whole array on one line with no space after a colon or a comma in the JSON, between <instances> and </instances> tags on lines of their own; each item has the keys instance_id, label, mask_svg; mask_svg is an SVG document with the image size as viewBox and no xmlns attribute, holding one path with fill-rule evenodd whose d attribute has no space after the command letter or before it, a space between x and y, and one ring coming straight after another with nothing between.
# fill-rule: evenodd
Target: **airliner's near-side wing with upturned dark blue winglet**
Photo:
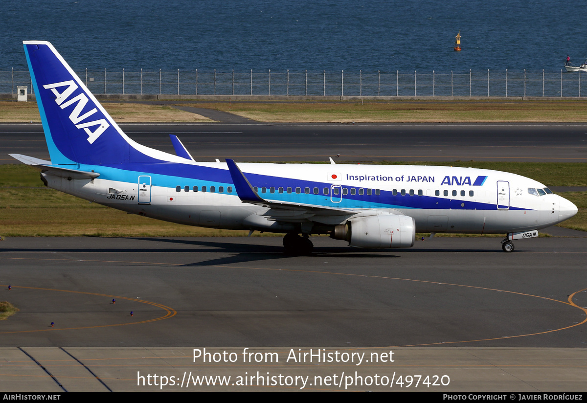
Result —
<instances>
[{"instance_id":1,"label":"airliner's near-side wing with upturned dark blue winglet","mask_svg":"<svg viewBox=\"0 0 587 403\"><path fill-rule=\"evenodd\" d=\"M291 203L285 201L271 201L266 200L259 196L257 191L252 187L251 182L248 181L247 177L242 173L237 164L230 159L226 159L228 170L234 187L237 191L238 197L243 203L255 204L258 206L271 208L269 215L278 219L279 221L291 219L292 216L340 216L340 215L353 215L359 212L357 209L349 208L336 208L326 206L316 206L312 204L302 203ZM284 210L288 212L284 212ZM265 214L267 215L267 214ZM288 217L288 218L286 218ZM280 219L281 218L281 219Z\"/></svg>"}]
</instances>

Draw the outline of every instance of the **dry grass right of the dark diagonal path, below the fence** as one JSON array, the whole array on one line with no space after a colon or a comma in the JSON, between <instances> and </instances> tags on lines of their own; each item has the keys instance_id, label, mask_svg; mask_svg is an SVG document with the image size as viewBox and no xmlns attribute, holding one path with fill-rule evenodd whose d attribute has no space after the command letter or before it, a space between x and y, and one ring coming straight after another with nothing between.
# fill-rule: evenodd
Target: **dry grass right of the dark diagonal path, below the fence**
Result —
<instances>
[{"instance_id":1,"label":"dry grass right of the dark diagonal path, below the fence","mask_svg":"<svg viewBox=\"0 0 587 403\"><path fill-rule=\"evenodd\" d=\"M181 103L266 122L579 122L581 100L363 100Z\"/></svg>"}]
</instances>

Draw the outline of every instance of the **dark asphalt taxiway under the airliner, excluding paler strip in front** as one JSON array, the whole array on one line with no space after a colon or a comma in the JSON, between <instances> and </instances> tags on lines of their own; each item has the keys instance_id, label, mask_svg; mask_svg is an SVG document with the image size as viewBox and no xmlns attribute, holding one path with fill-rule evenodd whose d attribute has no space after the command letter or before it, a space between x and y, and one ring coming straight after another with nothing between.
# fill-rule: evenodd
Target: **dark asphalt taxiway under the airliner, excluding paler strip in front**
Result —
<instances>
[{"instance_id":1,"label":"dark asphalt taxiway under the airliner, excluding paler strip in front","mask_svg":"<svg viewBox=\"0 0 587 403\"><path fill-rule=\"evenodd\" d=\"M587 346L585 237L313 242L289 257L276 237L7 238L0 285L21 312L0 346Z\"/></svg>"}]
</instances>

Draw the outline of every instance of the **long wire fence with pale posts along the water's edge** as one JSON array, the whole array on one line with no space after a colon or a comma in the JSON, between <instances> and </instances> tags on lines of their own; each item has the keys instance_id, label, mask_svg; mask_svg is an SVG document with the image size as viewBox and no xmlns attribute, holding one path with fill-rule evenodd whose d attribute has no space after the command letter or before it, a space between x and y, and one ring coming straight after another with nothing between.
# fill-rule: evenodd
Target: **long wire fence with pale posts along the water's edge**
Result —
<instances>
[{"instance_id":1,"label":"long wire fence with pale posts along the water's edge","mask_svg":"<svg viewBox=\"0 0 587 403\"><path fill-rule=\"evenodd\" d=\"M271 70L77 72L94 94L251 96L581 97L581 72L275 72ZM28 86L28 71L0 70L0 93ZM583 91L587 96L587 91Z\"/></svg>"}]
</instances>

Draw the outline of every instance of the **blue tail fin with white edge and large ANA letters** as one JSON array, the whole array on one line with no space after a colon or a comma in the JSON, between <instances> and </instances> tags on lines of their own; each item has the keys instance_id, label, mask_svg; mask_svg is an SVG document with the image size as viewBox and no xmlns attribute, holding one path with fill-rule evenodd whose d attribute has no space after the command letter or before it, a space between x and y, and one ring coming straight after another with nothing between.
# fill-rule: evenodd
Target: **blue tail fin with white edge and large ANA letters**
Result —
<instances>
[{"instance_id":1,"label":"blue tail fin with white edge and large ANA letters","mask_svg":"<svg viewBox=\"0 0 587 403\"><path fill-rule=\"evenodd\" d=\"M53 165L178 158L127 137L51 43L26 40L23 45Z\"/></svg>"}]
</instances>

